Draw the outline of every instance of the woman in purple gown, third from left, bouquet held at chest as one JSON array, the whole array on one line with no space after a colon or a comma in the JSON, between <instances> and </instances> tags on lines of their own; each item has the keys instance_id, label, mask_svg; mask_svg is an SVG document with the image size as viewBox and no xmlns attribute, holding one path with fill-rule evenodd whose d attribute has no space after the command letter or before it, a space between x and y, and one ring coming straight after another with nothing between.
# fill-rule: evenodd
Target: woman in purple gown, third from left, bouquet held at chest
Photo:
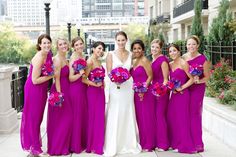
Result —
<instances>
[{"instance_id":1,"label":"woman in purple gown, third from left, bouquet held at chest","mask_svg":"<svg viewBox=\"0 0 236 157\"><path fill-rule=\"evenodd\" d=\"M86 85L82 82L85 71L82 69L75 73L72 65L78 59L85 59L83 56L84 41L80 37L72 40L73 54L70 57L70 99L73 109L73 131L71 137L71 151L81 153L86 149L87 132L87 99Z\"/></svg>"}]
</instances>

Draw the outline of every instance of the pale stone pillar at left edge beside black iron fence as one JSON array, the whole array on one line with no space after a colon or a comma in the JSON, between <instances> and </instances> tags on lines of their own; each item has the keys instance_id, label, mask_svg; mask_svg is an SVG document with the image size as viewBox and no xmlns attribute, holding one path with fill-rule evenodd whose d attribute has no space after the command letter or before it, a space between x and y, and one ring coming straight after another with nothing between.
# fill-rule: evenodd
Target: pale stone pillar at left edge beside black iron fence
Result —
<instances>
[{"instance_id":1,"label":"pale stone pillar at left edge beside black iron fence","mask_svg":"<svg viewBox=\"0 0 236 157\"><path fill-rule=\"evenodd\" d=\"M0 67L0 134L18 127L17 112L11 105L11 75L13 67Z\"/></svg>"}]
</instances>

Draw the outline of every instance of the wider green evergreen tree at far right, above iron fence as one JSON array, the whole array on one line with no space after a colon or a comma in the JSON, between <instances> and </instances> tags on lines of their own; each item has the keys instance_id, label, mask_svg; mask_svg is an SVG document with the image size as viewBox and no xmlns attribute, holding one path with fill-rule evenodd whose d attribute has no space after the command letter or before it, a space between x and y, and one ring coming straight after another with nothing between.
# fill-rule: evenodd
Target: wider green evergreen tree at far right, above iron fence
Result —
<instances>
[{"instance_id":1,"label":"wider green evergreen tree at far right, above iron fence","mask_svg":"<svg viewBox=\"0 0 236 157\"><path fill-rule=\"evenodd\" d=\"M211 29L209 31L209 42L224 41L226 44L234 39L234 32L228 28L227 23L232 21L232 13L229 10L229 0L220 2L218 16L213 19Z\"/></svg>"}]
</instances>

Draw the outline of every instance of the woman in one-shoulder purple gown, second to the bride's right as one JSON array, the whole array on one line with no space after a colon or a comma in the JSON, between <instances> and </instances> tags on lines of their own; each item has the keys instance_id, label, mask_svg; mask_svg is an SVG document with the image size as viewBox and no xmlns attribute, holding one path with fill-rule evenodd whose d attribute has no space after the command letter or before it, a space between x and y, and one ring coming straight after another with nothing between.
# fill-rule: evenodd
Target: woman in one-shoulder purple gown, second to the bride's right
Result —
<instances>
[{"instance_id":1,"label":"woman in one-shoulder purple gown, second to the bride's right","mask_svg":"<svg viewBox=\"0 0 236 157\"><path fill-rule=\"evenodd\" d=\"M151 42L153 85L157 82L166 85L169 78L169 61L161 52L162 46L163 42L159 39L154 39ZM157 122L156 149L158 151L166 151L169 148L166 122L169 92L163 96L155 96L154 99Z\"/></svg>"}]
</instances>

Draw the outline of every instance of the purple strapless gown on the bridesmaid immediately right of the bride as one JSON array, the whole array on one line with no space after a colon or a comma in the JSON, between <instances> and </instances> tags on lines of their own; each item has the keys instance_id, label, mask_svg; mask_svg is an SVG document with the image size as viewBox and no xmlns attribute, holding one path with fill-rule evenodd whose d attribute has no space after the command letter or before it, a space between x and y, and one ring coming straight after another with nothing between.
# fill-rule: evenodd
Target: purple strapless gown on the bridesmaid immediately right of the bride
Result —
<instances>
[{"instance_id":1,"label":"purple strapless gown on the bridesmaid immediately right of the bride","mask_svg":"<svg viewBox=\"0 0 236 157\"><path fill-rule=\"evenodd\" d=\"M148 76L143 66L138 66L131 69L131 75L134 83L146 82ZM136 111L136 119L139 129L140 145L142 149L151 151L155 148L155 134L156 134L156 117L154 97L149 88L144 93L143 100L140 100L139 93L134 93L134 104Z\"/></svg>"}]
</instances>

